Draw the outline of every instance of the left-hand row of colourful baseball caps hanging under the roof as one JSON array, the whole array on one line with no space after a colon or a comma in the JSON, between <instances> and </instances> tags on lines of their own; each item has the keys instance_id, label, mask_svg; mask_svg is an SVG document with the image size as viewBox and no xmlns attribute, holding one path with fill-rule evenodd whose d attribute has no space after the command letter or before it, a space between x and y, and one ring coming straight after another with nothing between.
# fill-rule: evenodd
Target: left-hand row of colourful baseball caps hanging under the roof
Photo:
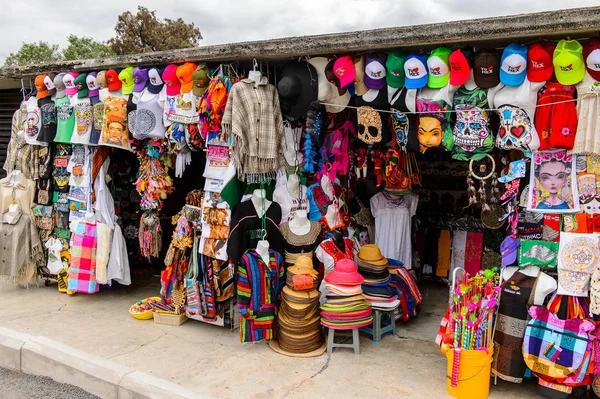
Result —
<instances>
[{"instance_id":1,"label":"left-hand row of colourful baseball caps hanging under the roof","mask_svg":"<svg viewBox=\"0 0 600 399\"><path fill-rule=\"evenodd\" d=\"M186 62L182 65L171 64L164 68L134 68L122 70L78 73L62 72L57 75L42 74L35 78L37 98L77 95L79 98L98 96L101 89L121 91L123 95L140 93L148 89L151 93L160 93L166 86L168 96L192 92L201 96L208 87L210 70L206 64L196 65Z\"/></svg>"}]
</instances>

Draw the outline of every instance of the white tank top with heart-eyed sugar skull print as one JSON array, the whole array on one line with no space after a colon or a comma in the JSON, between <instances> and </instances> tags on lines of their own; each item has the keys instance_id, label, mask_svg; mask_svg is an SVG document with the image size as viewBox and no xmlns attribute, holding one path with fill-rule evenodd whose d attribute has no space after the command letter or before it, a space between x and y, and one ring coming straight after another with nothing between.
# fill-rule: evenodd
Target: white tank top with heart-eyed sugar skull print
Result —
<instances>
[{"instance_id":1,"label":"white tank top with heart-eyed sugar skull print","mask_svg":"<svg viewBox=\"0 0 600 399\"><path fill-rule=\"evenodd\" d=\"M526 155L540 148L535 125L537 93L545 82L525 79L520 86L504 86L493 98L492 108L500 117L496 147L504 150L521 150Z\"/></svg>"}]
</instances>

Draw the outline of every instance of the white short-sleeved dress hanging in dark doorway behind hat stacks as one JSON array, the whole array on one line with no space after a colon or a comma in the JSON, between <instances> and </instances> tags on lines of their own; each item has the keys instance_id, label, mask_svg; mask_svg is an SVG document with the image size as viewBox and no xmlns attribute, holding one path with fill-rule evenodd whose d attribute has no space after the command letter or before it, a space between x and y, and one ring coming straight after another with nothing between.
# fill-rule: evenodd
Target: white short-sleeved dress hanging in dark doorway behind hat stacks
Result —
<instances>
[{"instance_id":1,"label":"white short-sleeved dress hanging in dark doorway behind hat stacks","mask_svg":"<svg viewBox=\"0 0 600 399\"><path fill-rule=\"evenodd\" d=\"M386 258L412 268L411 218L417 211L419 197L413 194L393 195L381 191L371 198L375 218L375 244Z\"/></svg>"}]
</instances>

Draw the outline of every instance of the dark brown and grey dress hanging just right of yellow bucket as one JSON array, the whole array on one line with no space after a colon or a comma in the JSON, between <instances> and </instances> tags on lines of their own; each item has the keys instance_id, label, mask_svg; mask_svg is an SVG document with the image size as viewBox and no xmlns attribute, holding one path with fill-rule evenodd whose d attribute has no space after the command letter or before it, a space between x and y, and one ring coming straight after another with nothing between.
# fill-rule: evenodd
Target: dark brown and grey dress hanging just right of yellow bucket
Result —
<instances>
[{"instance_id":1,"label":"dark brown and grey dress hanging just right of yellow bucket","mask_svg":"<svg viewBox=\"0 0 600 399\"><path fill-rule=\"evenodd\" d=\"M523 337L533 305L538 277L515 272L502 284L500 307L494 331L494 361L492 373L505 381L521 383L527 370L523 360Z\"/></svg>"}]
</instances>

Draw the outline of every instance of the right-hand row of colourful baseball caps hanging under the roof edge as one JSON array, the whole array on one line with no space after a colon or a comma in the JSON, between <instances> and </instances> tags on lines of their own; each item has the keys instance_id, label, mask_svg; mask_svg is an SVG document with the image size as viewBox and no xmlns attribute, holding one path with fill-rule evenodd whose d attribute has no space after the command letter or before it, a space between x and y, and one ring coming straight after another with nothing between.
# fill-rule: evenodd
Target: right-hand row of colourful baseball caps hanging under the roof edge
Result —
<instances>
[{"instance_id":1,"label":"right-hand row of colourful baseball caps hanging under the roof edge","mask_svg":"<svg viewBox=\"0 0 600 399\"><path fill-rule=\"evenodd\" d=\"M330 82L344 88L356 81L363 71L352 56L337 58L335 75ZM550 41L530 44L511 43L500 54L495 49L460 48L454 51L438 47L431 54L407 54L402 50L385 55L371 54L364 63L364 85L380 90L387 84L393 88L439 89L447 84L461 86L471 73L477 86L492 88L499 83L519 86L525 78L530 82L545 82L553 74L563 85L581 82L585 71L600 81L600 39L591 39L585 47L577 40L561 40L555 46ZM357 92L357 94L359 94Z\"/></svg>"}]
</instances>

